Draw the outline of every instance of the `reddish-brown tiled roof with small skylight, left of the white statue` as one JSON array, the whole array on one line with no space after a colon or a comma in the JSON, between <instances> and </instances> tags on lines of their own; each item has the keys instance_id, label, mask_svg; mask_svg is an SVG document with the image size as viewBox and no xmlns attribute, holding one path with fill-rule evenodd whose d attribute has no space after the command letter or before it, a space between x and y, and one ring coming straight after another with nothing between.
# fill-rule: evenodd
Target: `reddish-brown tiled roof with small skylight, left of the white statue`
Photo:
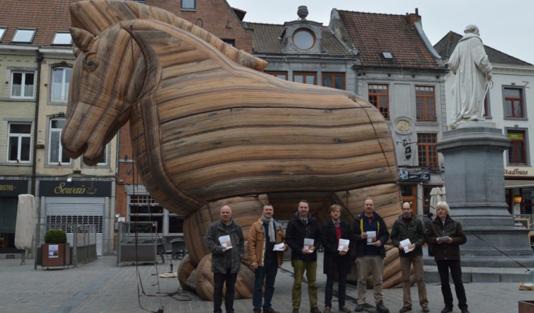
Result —
<instances>
[{"instance_id":1,"label":"reddish-brown tiled roof with small skylight, left of the white statue","mask_svg":"<svg viewBox=\"0 0 534 313\"><path fill-rule=\"evenodd\" d=\"M440 68L408 16L338 10L364 66ZM390 52L393 60L383 58Z\"/></svg>"}]
</instances>

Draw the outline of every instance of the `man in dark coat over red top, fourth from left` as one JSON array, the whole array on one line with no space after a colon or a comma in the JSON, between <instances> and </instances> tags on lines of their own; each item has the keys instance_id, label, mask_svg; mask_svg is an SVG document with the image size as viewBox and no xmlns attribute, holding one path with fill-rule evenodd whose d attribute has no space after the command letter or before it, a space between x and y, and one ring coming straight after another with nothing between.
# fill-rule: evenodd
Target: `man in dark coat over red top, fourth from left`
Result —
<instances>
[{"instance_id":1,"label":"man in dark coat over red top, fourth from left","mask_svg":"<svg viewBox=\"0 0 534 313\"><path fill-rule=\"evenodd\" d=\"M334 204L330 206L330 221L325 223L321 228L322 247L325 250L325 259L323 260L323 273L327 275L327 285L325 287L325 313L332 310L332 290L334 287L334 278L338 275L338 292L337 299L339 312L351 312L345 307L345 290L347 275L351 272L350 265L350 239L352 231L350 225L341 221L341 206ZM349 243L341 245L340 239L349 240Z\"/></svg>"}]
</instances>

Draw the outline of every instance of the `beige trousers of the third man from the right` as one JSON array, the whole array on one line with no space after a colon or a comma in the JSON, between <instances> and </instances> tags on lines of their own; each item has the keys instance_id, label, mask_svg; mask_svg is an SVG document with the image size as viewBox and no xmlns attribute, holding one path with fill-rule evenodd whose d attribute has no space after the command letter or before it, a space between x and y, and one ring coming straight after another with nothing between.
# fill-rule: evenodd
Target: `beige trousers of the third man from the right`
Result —
<instances>
[{"instance_id":1,"label":"beige trousers of the third man from the right","mask_svg":"<svg viewBox=\"0 0 534 313\"><path fill-rule=\"evenodd\" d=\"M380 255L363 255L356 257L356 268L358 269L358 285L356 287L358 297L356 299L356 304L365 303L367 277L369 277L369 274L371 274L374 279L374 302L378 303L383 300L383 258Z\"/></svg>"}]
</instances>

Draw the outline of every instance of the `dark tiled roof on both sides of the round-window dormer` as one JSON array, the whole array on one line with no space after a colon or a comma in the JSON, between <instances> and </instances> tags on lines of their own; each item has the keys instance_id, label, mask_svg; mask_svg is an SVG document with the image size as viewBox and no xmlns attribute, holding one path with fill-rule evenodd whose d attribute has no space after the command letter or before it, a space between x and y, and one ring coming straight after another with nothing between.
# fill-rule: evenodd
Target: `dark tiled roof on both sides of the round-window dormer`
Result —
<instances>
[{"instance_id":1,"label":"dark tiled roof on both sides of the round-window dormer","mask_svg":"<svg viewBox=\"0 0 534 313\"><path fill-rule=\"evenodd\" d=\"M252 38L254 53L282 53L282 38L284 36L285 26L251 22L246 22L246 26L254 29L254 36ZM328 27L322 26L321 31L322 53L329 55L354 55L334 34L330 33Z\"/></svg>"}]
</instances>

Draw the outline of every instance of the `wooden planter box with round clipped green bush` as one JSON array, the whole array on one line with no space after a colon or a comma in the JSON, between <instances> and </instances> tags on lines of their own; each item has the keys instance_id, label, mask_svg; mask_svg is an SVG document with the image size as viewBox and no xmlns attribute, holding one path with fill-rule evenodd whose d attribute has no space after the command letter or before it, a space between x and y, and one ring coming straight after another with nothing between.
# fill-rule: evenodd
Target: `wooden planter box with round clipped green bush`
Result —
<instances>
[{"instance_id":1,"label":"wooden planter box with round clipped green bush","mask_svg":"<svg viewBox=\"0 0 534 313\"><path fill-rule=\"evenodd\" d=\"M43 267L70 265L70 246L64 230L48 230L45 243L41 246Z\"/></svg>"}]
</instances>

